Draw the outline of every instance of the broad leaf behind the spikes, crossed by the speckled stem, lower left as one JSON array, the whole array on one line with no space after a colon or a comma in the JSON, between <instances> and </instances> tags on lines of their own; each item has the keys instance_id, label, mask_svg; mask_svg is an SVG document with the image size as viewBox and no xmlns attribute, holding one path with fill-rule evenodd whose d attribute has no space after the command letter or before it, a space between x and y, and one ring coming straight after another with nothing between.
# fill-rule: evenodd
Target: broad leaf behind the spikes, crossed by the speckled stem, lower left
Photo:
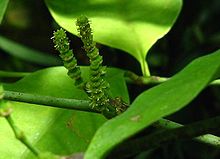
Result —
<instances>
[{"instance_id":1,"label":"broad leaf behind the spikes, crossed by the speckled stem, lower left","mask_svg":"<svg viewBox=\"0 0 220 159\"><path fill-rule=\"evenodd\" d=\"M87 67L82 68L88 76ZM14 84L5 84L5 90L62 98L87 99L87 95L74 87L63 67L37 71ZM128 102L123 71L108 69L107 79L111 93ZM55 154L72 154L86 150L92 136L106 119L95 113L41 107L40 105L12 102L17 126L41 151ZM6 121L0 118L0 159L34 159L31 152L15 139ZM3 146L2 146L3 145Z\"/></svg>"}]
</instances>

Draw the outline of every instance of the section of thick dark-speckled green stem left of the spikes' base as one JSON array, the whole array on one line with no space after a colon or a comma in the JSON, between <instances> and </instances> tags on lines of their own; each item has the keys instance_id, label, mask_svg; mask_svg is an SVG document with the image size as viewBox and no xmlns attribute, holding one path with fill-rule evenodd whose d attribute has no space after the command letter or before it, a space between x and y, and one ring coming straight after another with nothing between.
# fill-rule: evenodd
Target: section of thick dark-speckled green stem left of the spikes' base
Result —
<instances>
[{"instance_id":1,"label":"section of thick dark-speckled green stem left of the spikes' base","mask_svg":"<svg viewBox=\"0 0 220 159\"><path fill-rule=\"evenodd\" d=\"M5 93L4 99L6 100L40 104L40 105L52 106L56 108L94 112L94 110L89 106L89 101L87 100L56 98L50 96L42 96L42 95L13 92L13 91L4 91L4 93Z\"/></svg>"}]
</instances>

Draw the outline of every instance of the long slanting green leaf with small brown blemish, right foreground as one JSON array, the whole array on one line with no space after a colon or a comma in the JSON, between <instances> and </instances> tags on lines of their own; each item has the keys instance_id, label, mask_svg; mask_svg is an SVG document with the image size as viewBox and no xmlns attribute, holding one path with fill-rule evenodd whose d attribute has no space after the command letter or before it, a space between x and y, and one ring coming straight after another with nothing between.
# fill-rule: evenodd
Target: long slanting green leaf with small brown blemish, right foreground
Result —
<instances>
[{"instance_id":1,"label":"long slanting green leaf with small brown blemish, right foreground","mask_svg":"<svg viewBox=\"0 0 220 159\"><path fill-rule=\"evenodd\" d=\"M220 77L219 61L220 50L196 59L167 82L143 92L125 113L96 132L85 159L103 158L123 140L187 106L210 81Z\"/></svg>"}]
</instances>

